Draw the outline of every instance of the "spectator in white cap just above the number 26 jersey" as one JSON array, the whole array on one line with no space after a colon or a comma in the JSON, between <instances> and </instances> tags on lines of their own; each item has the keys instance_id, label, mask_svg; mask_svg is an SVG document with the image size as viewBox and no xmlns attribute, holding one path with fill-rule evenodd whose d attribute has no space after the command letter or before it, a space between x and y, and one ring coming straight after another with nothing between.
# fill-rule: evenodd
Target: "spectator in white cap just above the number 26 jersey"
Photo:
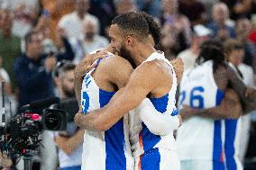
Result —
<instances>
[{"instance_id":1,"label":"spectator in white cap just above the number 26 jersey","mask_svg":"<svg viewBox=\"0 0 256 170\"><path fill-rule=\"evenodd\" d=\"M192 43L189 49L178 54L184 64L184 71L189 67L195 67L196 59L200 52L202 43L209 39L211 31L203 25L195 25L193 29Z\"/></svg>"}]
</instances>

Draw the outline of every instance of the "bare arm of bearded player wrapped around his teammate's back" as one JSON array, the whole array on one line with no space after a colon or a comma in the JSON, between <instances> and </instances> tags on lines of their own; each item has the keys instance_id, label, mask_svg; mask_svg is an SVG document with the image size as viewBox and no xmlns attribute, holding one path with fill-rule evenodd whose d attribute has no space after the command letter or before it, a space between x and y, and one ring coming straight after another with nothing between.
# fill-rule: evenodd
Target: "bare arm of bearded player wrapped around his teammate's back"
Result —
<instances>
[{"instance_id":1,"label":"bare arm of bearded player wrapped around his teammate's back","mask_svg":"<svg viewBox=\"0 0 256 170\"><path fill-rule=\"evenodd\" d=\"M166 73L157 62L147 62L133 71L127 85L114 94L111 101L104 108L79 115L75 121L81 128L87 130L108 130L123 115L142 103L148 94L154 94L154 89L162 84L171 85L172 79L166 82ZM147 76L145 76L147 75ZM161 75L161 76L160 76ZM170 76L172 77L172 76ZM167 87L168 90L170 87ZM168 92L167 89L162 94ZM160 96L154 96L160 97Z\"/></svg>"}]
</instances>

